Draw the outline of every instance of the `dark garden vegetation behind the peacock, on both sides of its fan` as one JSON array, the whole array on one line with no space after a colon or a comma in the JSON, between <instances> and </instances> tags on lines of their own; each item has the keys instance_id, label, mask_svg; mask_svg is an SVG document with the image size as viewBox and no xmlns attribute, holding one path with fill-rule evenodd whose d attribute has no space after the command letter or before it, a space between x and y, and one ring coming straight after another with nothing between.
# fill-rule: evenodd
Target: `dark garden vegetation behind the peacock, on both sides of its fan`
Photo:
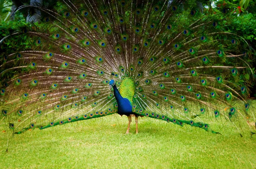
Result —
<instances>
[{"instance_id":1,"label":"dark garden vegetation behind the peacock, on both sides of its fan","mask_svg":"<svg viewBox=\"0 0 256 169\"><path fill-rule=\"evenodd\" d=\"M222 10L223 6L228 6L229 12L233 15L233 22L227 28L234 34L240 36L239 42L245 43L242 39L246 39L250 45L250 59L253 69L253 75L244 71L240 75L242 82L250 82L250 97L256 98L256 75L254 68L256 67L256 0L199 0L204 6L204 13L208 10L216 8ZM36 13L36 8L29 10L18 10L20 6L33 4L35 6L44 6L52 8L52 0L0 0L0 39L12 33L15 26L26 25L34 20L29 20L27 16L33 16ZM15 46L29 48L29 42L26 39L14 40L15 37L9 37L0 44L0 64L3 62L4 53L12 50ZM243 45L243 44L241 44ZM15 72L1 75L0 81L3 78L11 78ZM4 76L4 77L3 77Z\"/></svg>"}]
</instances>

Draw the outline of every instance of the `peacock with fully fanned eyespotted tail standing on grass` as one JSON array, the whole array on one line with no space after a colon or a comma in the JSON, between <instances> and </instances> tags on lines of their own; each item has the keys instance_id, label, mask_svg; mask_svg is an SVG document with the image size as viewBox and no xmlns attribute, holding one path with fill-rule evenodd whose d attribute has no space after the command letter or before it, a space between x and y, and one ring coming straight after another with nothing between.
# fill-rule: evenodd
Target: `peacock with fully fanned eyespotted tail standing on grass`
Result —
<instances>
[{"instance_id":1,"label":"peacock with fully fanned eyespotted tail standing on grass","mask_svg":"<svg viewBox=\"0 0 256 169\"><path fill-rule=\"evenodd\" d=\"M250 46L228 29L227 3L57 0L18 10L40 19L0 41L20 42L0 65L0 120L12 134L114 113L128 117L126 133L132 116L136 133L139 117L215 134L206 119L239 131L237 119L255 121L243 80Z\"/></svg>"}]
</instances>

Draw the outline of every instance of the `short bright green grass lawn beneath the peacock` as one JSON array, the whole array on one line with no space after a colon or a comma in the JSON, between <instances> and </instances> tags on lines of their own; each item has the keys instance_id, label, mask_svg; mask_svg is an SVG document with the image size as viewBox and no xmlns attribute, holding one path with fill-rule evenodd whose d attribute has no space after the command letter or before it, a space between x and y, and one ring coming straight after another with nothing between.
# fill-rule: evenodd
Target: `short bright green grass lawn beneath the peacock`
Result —
<instances>
[{"instance_id":1,"label":"short bright green grass lawn beneath the peacock","mask_svg":"<svg viewBox=\"0 0 256 169\"><path fill-rule=\"evenodd\" d=\"M0 168L256 168L256 136L227 125L223 135L139 118L108 115L15 135L0 126ZM230 128L229 128L230 127Z\"/></svg>"}]
</instances>

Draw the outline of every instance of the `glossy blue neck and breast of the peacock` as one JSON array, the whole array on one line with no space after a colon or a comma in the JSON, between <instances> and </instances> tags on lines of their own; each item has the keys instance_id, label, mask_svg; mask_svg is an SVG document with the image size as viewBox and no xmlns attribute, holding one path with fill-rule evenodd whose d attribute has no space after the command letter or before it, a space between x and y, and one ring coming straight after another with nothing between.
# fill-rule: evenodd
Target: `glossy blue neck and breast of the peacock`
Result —
<instances>
[{"instance_id":1,"label":"glossy blue neck and breast of the peacock","mask_svg":"<svg viewBox=\"0 0 256 169\"><path fill-rule=\"evenodd\" d=\"M127 98L123 98L121 96L118 89L116 88L116 85L113 86L113 90L114 90L114 96L116 98L117 105L118 105L118 113L126 114L126 115L131 114L132 106L131 106L130 101Z\"/></svg>"}]
</instances>

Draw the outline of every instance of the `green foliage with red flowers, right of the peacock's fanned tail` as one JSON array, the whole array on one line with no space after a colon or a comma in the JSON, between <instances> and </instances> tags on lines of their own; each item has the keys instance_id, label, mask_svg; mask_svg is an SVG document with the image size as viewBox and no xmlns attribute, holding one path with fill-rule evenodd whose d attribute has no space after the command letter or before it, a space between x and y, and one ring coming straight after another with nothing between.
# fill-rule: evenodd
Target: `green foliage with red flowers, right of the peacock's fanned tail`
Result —
<instances>
[{"instance_id":1,"label":"green foliage with red flowers, right of the peacock's fanned tail","mask_svg":"<svg viewBox=\"0 0 256 169\"><path fill-rule=\"evenodd\" d=\"M233 15L232 22L225 26L226 31L236 34L239 45L250 45L249 55L244 60L255 67L255 46L256 46L256 1L255 0L221 0L214 1L216 9L229 8L230 15ZM252 63L253 62L253 63ZM253 73L252 73L253 72ZM251 84L255 86L255 68L248 68L240 75L239 83Z\"/></svg>"}]
</instances>

